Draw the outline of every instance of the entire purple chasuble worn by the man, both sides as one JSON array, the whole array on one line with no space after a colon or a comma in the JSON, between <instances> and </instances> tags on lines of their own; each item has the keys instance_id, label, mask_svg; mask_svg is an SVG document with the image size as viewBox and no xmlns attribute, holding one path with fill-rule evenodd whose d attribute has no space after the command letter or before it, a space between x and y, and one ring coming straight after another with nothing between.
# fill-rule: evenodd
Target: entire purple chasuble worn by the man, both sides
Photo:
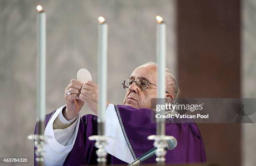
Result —
<instances>
[{"instance_id":1,"label":"entire purple chasuble worn by the man, both sides","mask_svg":"<svg viewBox=\"0 0 256 166\"><path fill-rule=\"evenodd\" d=\"M55 111L46 115L46 124ZM115 105L115 111L125 135L125 140L131 147L133 158L138 158L152 149L154 141L148 140L147 136L156 134L156 123L151 121L153 111L145 108L136 109L125 105ZM37 125L35 134L37 134ZM69 152L64 166L97 164L95 141L88 139L91 135L97 135L97 116L87 114L80 119L73 149ZM177 139L176 148L167 151L166 163L206 162L202 136L195 123L166 123L166 135L174 136ZM107 157L108 164L127 164L110 154ZM155 158L156 156L143 163L155 163ZM36 162L34 165L36 166Z\"/></svg>"}]
</instances>

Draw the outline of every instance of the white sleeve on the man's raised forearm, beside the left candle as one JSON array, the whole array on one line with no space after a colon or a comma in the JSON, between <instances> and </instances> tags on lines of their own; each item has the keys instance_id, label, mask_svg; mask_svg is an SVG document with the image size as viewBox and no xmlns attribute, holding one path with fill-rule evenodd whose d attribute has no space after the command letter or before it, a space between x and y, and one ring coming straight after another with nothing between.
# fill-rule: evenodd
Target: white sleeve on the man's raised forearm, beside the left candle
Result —
<instances>
[{"instance_id":1,"label":"white sleeve on the man's raised forearm, beside the left candle","mask_svg":"<svg viewBox=\"0 0 256 166\"><path fill-rule=\"evenodd\" d=\"M44 164L46 166L62 166L67 155L72 150L77 137L80 122L79 114L79 117L75 119L76 121L66 129L53 129L53 122L59 114L62 114L62 109L64 107L65 105L54 112L44 131L44 135L46 136L46 143L44 145ZM65 120L67 122L67 119Z\"/></svg>"}]
</instances>

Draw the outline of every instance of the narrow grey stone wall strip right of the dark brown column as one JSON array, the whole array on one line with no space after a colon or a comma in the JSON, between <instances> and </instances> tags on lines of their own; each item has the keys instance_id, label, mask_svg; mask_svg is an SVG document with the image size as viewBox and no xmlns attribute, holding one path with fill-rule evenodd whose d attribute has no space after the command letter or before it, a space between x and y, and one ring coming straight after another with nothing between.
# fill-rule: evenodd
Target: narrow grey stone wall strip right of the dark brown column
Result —
<instances>
[{"instance_id":1,"label":"narrow grey stone wall strip right of the dark brown column","mask_svg":"<svg viewBox=\"0 0 256 166\"><path fill-rule=\"evenodd\" d=\"M244 98L256 98L256 1L242 0L241 5L241 89ZM256 124L242 124L243 166L256 165L255 140Z\"/></svg>"}]
</instances>

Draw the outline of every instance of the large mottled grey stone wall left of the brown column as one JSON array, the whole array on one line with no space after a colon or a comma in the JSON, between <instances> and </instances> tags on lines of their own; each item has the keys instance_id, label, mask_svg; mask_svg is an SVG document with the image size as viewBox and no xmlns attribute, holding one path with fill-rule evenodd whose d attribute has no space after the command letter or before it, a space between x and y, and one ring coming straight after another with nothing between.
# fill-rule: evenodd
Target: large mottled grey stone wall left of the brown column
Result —
<instances>
[{"instance_id":1,"label":"large mottled grey stone wall left of the brown column","mask_svg":"<svg viewBox=\"0 0 256 166\"><path fill-rule=\"evenodd\" d=\"M36 5L47 14L46 110L65 103L64 89L80 68L97 82L97 17L109 24L108 100L122 104L121 81L141 62L156 60L156 15L167 25L166 66L176 73L175 0L0 0L0 156L33 165L36 116ZM92 113L87 107L82 113Z\"/></svg>"}]
</instances>

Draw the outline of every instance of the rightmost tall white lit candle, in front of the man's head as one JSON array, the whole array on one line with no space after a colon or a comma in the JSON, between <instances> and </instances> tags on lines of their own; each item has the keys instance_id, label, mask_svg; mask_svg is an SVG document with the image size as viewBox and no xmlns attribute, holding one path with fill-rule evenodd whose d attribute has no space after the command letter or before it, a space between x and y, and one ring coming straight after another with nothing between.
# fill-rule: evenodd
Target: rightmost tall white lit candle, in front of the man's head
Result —
<instances>
[{"instance_id":1,"label":"rightmost tall white lit candle, in front of the man's head","mask_svg":"<svg viewBox=\"0 0 256 166\"><path fill-rule=\"evenodd\" d=\"M163 18L156 16L156 62L157 68L157 98L158 104L165 103L165 64L166 64L166 25L163 22ZM160 114L164 114L164 110L161 110ZM165 119L159 119L161 123L158 123L157 135L165 134Z\"/></svg>"}]
</instances>

